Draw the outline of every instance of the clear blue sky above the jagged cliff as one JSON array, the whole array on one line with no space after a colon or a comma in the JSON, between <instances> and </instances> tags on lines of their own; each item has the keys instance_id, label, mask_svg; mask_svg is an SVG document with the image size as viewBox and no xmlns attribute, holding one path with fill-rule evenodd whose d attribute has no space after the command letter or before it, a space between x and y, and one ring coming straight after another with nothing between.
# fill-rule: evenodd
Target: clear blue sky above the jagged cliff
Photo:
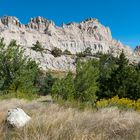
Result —
<instances>
[{"instance_id":1,"label":"clear blue sky above the jagged cliff","mask_svg":"<svg viewBox=\"0 0 140 140\"><path fill-rule=\"evenodd\" d=\"M4 15L22 23L43 16L57 25L93 17L110 27L113 38L132 48L140 44L140 0L0 0Z\"/></svg>"}]
</instances>

